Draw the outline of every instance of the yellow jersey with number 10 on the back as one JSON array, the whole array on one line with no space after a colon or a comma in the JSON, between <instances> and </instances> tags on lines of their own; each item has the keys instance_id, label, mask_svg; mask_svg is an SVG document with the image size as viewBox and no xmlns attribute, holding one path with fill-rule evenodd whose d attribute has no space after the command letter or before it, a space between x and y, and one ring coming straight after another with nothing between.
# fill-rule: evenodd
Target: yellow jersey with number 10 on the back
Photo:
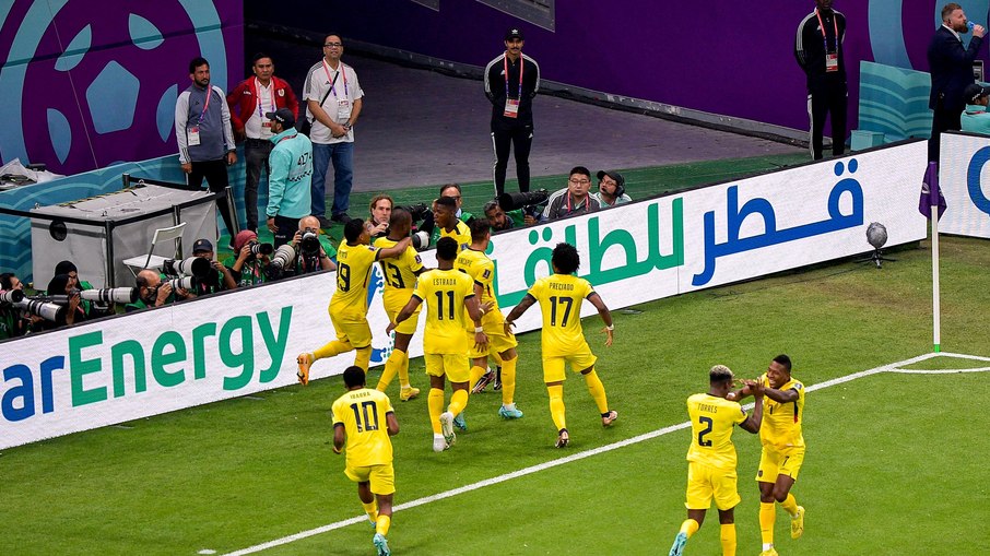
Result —
<instances>
[{"instance_id":1,"label":"yellow jersey with number 10 on the back","mask_svg":"<svg viewBox=\"0 0 990 556\"><path fill-rule=\"evenodd\" d=\"M378 390L350 390L333 402L333 426L347 436L347 466L364 468L392 461L386 415L394 413L388 395Z\"/></svg>"}]
</instances>

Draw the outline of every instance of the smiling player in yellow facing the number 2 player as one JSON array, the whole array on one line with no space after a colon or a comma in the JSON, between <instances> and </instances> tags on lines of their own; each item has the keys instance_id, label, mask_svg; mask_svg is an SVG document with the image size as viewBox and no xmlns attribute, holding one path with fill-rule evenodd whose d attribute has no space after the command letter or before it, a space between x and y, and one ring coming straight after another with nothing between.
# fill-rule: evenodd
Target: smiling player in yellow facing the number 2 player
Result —
<instances>
[{"instance_id":1,"label":"smiling player in yellow facing the number 2 player","mask_svg":"<svg viewBox=\"0 0 990 556\"><path fill-rule=\"evenodd\" d=\"M763 386L763 428L759 441L763 452L756 481L759 485L759 535L763 537L761 556L777 556L774 548L774 524L777 521L777 504L791 517L791 539L804 533L804 507L798 506L790 494L798 472L804 462L804 385L791 376L791 358L787 355L774 357L766 374L759 377ZM743 388L732 393L742 400L751 393ZM776 504L775 504L776 502Z\"/></svg>"}]
</instances>

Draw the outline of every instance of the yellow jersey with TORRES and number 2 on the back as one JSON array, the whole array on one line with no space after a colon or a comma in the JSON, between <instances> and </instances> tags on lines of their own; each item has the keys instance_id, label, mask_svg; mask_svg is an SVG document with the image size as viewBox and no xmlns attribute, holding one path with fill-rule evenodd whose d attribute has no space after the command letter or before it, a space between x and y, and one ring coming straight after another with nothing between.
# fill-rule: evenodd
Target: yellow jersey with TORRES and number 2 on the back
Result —
<instances>
[{"instance_id":1,"label":"yellow jersey with TORRES and number 2 on the back","mask_svg":"<svg viewBox=\"0 0 990 556\"><path fill-rule=\"evenodd\" d=\"M732 430L746 421L746 411L739 402L711 394L694 394L687 399L691 416L691 448L687 461L734 470L738 463Z\"/></svg>"}]
</instances>

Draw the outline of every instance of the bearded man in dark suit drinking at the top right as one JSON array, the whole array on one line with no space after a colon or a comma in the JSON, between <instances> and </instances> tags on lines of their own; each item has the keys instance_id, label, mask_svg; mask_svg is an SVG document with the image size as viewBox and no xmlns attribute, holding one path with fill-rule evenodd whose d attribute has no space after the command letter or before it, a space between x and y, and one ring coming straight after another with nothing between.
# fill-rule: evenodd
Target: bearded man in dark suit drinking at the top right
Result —
<instances>
[{"instance_id":1,"label":"bearded man in dark suit drinking at the top right","mask_svg":"<svg viewBox=\"0 0 990 556\"><path fill-rule=\"evenodd\" d=\"M973 26L969 48L963 47L960 33L969 31L969 21L963 7L950 2L942 8L942 26L935 31L928 45L928 66L932 76L932 92L928 107L932 116L932 137L928 141L928 159L939 161L939 141L943 131L960 129L959 116L966 108L963 91L973 84L973 60L983 44L982 25Z\"/></svg>"}]
</instances>

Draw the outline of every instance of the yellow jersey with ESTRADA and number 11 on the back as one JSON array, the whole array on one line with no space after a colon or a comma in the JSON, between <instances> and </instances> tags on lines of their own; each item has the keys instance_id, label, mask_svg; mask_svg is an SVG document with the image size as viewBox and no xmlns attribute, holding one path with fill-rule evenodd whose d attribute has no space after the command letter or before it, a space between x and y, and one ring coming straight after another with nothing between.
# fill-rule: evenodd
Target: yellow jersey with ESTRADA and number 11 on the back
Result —
<instances>
[{"instance_id":1,"label":"yellow jersey with ESTRADA and number 11 on the back","mask_svg":"<svg viewBox=\"0 0 990 556\"><path fill-rule=\"evenodd\" d=\"M427 307L423 351L467 355L464 300L474 297L474 281L457 269L434 269L420 274L413 296Z\"/></svg>"}]
</instances>

